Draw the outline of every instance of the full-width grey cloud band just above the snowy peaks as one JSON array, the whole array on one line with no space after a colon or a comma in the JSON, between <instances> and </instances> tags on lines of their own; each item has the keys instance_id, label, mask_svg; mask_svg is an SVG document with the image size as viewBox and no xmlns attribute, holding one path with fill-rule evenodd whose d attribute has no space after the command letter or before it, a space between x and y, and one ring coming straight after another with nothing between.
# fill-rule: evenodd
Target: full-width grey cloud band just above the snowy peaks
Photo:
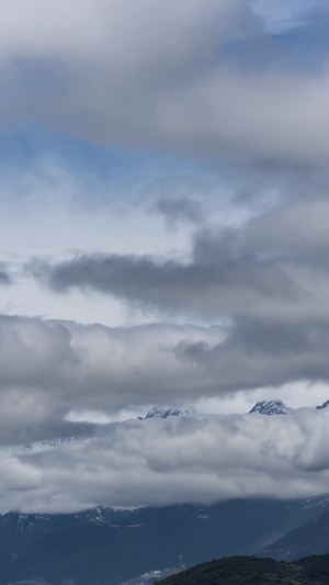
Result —
<instances>
[{"instance_id":1,"label":"full-width grey cloud band just above the snowy peaks","mask_svg":"<svg viewBox=\"0 0 329 585\"><path fill-rule=\"evenodd\" d=\"M88 413L113 419L150 404L193 406L290 382L328 384L328 322L110 328L1 317L0 445L94 432L94 425L75 423Z\"/></svg>"}]
</instances>

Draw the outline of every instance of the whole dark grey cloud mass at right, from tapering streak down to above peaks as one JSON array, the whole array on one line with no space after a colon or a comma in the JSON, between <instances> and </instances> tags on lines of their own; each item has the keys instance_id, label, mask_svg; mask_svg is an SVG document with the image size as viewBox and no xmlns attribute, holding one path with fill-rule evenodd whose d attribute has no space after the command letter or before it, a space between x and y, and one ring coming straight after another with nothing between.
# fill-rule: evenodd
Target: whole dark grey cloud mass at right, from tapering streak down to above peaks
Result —
<instances>
[{"instance_id":1,"label":"whole dark grey cloud mass at right, from tapering streak down to above peaks","mask_svg":"<svg viewBox=\"0 0 329 585\"><path fill-rule=\"evenodd\" d=\"M328 382L328 211L324 194L307 193L240 226L201 230L185 263L91 255L32 270L60 293L94 290L158 314L225 324L218 341L170 347L181 368L200 373L203 396Z\"/></svg>"}]
</instances>

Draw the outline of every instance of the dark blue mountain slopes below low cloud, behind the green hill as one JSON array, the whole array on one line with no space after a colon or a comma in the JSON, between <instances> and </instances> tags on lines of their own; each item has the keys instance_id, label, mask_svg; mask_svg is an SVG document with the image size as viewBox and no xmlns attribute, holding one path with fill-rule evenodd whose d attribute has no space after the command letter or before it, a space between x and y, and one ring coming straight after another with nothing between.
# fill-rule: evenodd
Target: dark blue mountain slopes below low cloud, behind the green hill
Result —
<instances>
[{"instance_id":1,"label":"dark blue mountain slopes below low cloud, behind the green hill","mask_svg":"<svg viewBox=\"0 0 329 585\"><path fill-rule=\"evenodd\" d=\"M49 585L116 585L149 571L263 551L326 513L328 496L69 515L9 513L0 516L0 584L33 576Z\"/></svg>"}]
</instances>

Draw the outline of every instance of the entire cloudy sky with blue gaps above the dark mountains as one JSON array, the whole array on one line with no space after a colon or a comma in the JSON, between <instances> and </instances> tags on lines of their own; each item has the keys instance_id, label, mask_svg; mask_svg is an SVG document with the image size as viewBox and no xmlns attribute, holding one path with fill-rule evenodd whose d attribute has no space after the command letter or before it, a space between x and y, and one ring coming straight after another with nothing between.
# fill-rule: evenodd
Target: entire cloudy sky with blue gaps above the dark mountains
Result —
<instances>
[{"instance_id":1,"label":"entire cloudy sky with blue gaps above the dark mountains","mask_svg":"<svg viewBox=\"0 0 329 585\"><path fill-rule=\"evenodd\" d=\"M328 24L0 0L0 508L327 490ZM299 414L246 418L270 398ZM154 404L200 415L136 421Z\"/></svg>"}]
</instances>

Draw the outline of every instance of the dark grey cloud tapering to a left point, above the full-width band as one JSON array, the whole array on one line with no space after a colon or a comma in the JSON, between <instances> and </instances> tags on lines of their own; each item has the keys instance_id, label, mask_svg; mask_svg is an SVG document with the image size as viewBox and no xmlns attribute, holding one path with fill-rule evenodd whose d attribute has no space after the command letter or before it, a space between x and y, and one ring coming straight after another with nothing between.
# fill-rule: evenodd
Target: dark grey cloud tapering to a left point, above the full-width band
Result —
<instances>
[{"instance_id":1,"label":"dark grey cloud tapering to a left point, above the full-width band","mask_svg":"<svg viewBox=\"0 0 329 585\"><path fill-rule=\"evenodd\" d=\"M185 262L94 254L57 265L35 260L29 270L54 291L94 290L146 311L208 319L326 318L329 204L322 179L313 184L319 194L309 194L308 185L240 226L200 230Z\"/></svg>"}]
</instances>

